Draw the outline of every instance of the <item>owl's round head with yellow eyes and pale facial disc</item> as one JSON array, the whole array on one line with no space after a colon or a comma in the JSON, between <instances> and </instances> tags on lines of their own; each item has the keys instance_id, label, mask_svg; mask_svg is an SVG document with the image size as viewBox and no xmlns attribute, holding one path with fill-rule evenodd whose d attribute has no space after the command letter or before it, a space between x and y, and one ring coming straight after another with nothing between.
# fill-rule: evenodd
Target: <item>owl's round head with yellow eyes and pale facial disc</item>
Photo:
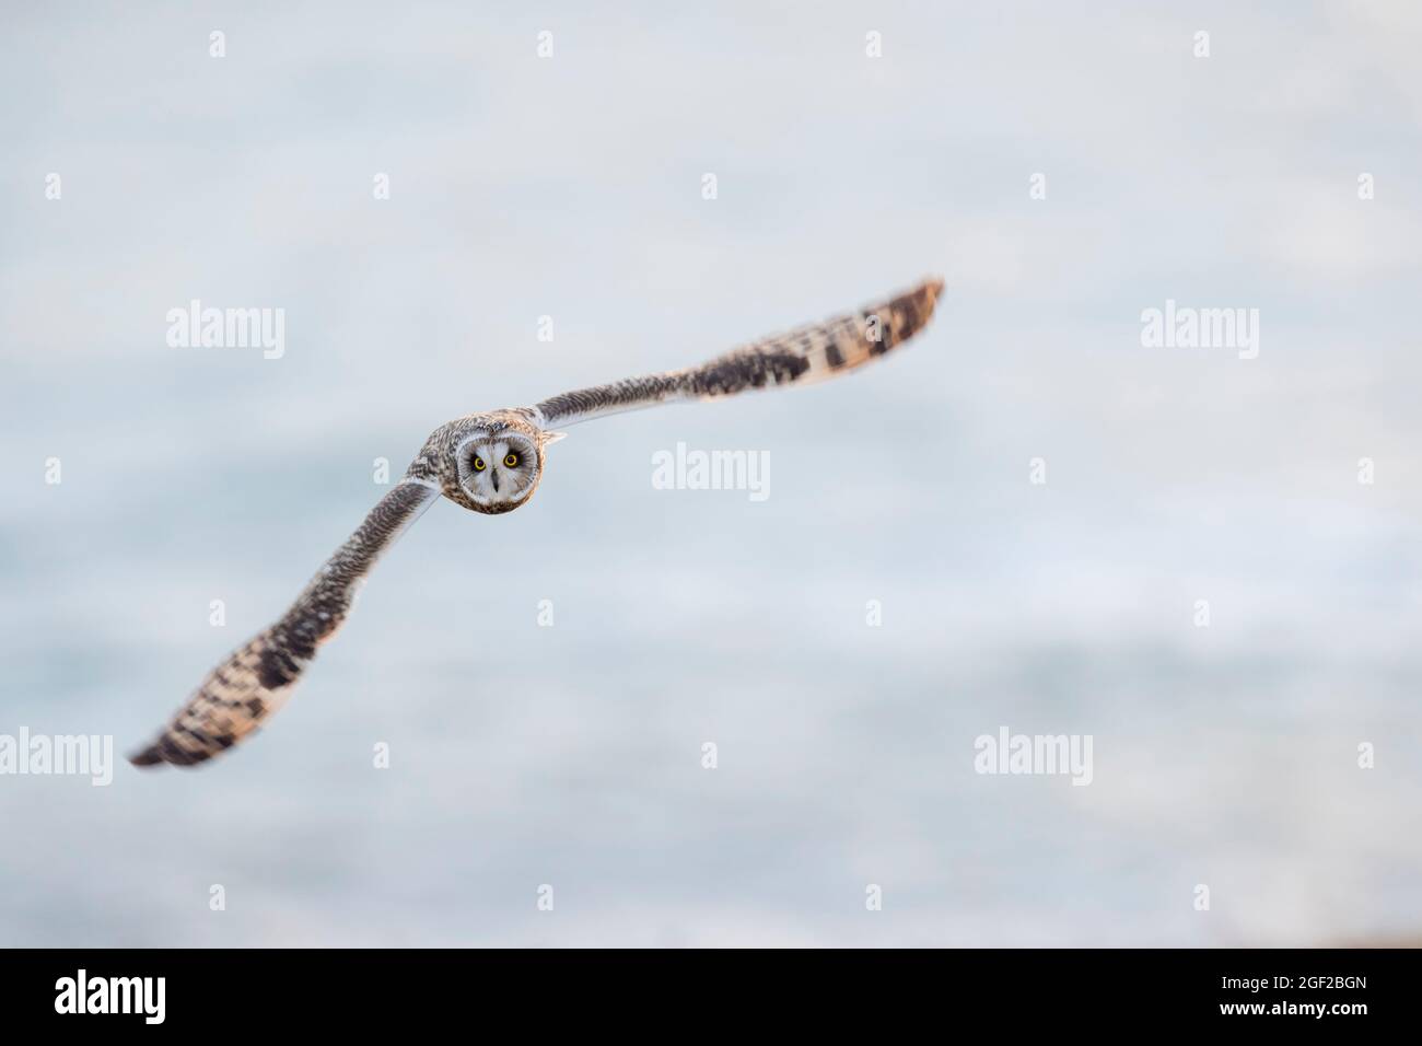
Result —
<instances>
[{"instance_id":1,"label":"owl's round head with yellow eyes and pale facial disc","mask_svg":"<svg viewBox=\"0 0 1422 1046\"><path fill-rule=\"evenodd\" d=\"M441 470L447 498L475 512L512 512L543 477L543 448L560 438L522 420L468 426Z\"/></svg>"}]
</instances>

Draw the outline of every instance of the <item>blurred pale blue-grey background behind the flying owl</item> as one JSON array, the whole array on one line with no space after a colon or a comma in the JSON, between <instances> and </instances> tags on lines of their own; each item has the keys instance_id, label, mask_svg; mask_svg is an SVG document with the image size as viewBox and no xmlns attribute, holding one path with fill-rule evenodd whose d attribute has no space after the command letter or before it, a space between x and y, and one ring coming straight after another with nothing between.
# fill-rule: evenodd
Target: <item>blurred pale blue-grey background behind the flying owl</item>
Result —
<instances>
[{"instance_id":1,"label":"blurred pale blue-grey background behind the flying owl","mask_svg":"<svg viewBox=\"0 0 1422 1046\"><path fill-rule=\"evenodd\" d=\"M7 7L0 733L145 739L449 417L948 295L437 505L232 757L0 777L0 944L1422 926L1418 9L584 9ZM284 359L169 349L192 297L283 307ZM1258 359L1142 347L1167 297L1260 309ZM768 450L769 501L653 490L678 440ZM1094 784L975 776L1000 726Z\"/></svg>"}]
</instances>

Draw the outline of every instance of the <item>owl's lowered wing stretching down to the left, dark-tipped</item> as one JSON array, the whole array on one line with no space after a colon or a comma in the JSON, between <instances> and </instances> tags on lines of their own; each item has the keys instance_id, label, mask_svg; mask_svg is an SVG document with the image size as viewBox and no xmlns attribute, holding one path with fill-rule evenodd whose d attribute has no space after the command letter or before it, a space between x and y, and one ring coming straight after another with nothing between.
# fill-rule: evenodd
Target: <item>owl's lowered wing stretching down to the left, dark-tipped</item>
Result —
<instances>
[{"instance_id":1,"label":"owl's lowered wing stretching down to the left, dark-tipped","mask_svg":"<svg viewBox=\"0 0 1422 1046\"><path fill-rule=\"evenodd\" d=\"M276 625L215 667L134 766L193 766L230 749L286 703L303 669L346 620L356 586L395 538L439 497L421 480L402 480L365 517Z\"/></svg>"}]
</instances>

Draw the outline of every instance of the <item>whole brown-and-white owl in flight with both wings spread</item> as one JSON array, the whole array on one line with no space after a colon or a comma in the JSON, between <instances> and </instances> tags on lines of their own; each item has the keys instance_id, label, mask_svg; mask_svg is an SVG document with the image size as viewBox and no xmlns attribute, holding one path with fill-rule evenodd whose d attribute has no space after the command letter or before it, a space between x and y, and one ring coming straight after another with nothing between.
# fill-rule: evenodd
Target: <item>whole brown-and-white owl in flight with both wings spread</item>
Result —
<instances>
[{"instance_id":1,"label":"whole brown-and-white owl in flight with both wings spread","mask_svg":"<svg viewBox=\"0 0 1422 1046\"><path fill-rule=\"evenodd\" d=\"M735 349L685 370L634 377L533 407L469 414L439 426L405 475L311 578L279 622L218 665L135 766L195 766L250 736L286 703L316 648L336 635L356 586L380 555L441 494L474 512L512 512L543 478L545 448L566 426L674 400L714 400L748 389L809 384L883 356L933 316L941 279L825 323Z\"/></svg>"}]
</instances>

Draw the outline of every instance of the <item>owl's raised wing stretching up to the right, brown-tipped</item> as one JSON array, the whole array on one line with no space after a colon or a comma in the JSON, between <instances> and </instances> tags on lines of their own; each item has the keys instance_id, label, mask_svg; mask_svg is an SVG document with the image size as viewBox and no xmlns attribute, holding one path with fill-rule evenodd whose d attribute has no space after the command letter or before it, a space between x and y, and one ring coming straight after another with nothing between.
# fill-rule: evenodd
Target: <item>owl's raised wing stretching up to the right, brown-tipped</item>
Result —
<instances>
[{"instance_id":1,"label":"owl's raised wing stretching up to the right, brown-tipped","mask_svg":"<svg viewBox=\"0 0 1422 1046\"><path fill-rule=\"evenodd\" d=\"M941 279L857 312L734 349L700 367L648 374L543 400L528 413L543 428L674 400L708 400L747 389L809 384L843 374L899 347L933 316Z\"/></svg>"}]
</instances>

